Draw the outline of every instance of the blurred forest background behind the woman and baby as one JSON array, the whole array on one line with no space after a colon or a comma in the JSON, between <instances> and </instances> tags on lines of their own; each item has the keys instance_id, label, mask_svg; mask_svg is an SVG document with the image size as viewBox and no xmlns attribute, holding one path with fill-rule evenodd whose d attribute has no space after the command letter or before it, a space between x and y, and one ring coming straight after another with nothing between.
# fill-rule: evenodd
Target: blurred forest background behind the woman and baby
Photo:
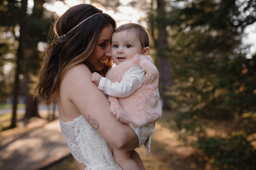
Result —
<instances>
[{"instance_id":1,"label":"blurred forest background behind the woman and baby","mask_svg":"<svg viewBox=\"0 0 256 170\"><path fill-rule=\"evenodd\" d=\"M163 110L176 112L163 125L198 148L213 169L256 169L256 40L244 41L256 32L255 0L75 2L99 3L115 19L136 9L136 21L117 22L148 29ZM25 101L26 119L39 116L31 97L54 38L48 33L61 15L56 3L63 11L72 6L70 0L1 0L0 102L12 103L9 128L16 127L18 102ZM218 130L220 124L228 130Z\"/></svg>"}]
</instances>

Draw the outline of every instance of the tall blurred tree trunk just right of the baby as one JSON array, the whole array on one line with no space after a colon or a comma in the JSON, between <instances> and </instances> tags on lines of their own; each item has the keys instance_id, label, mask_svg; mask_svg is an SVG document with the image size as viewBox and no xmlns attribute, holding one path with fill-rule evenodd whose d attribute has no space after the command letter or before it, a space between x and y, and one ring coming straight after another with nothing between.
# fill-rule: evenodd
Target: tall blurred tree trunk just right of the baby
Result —
<instances>
[{"instance_id":1,"label":"tall blurred tree trunk just right of the baby","mask_svg":"<svg viewBox=\"0 0 256 170\"><path fill-rule=\"evenodd\" d=\"M168 103L168 96L166 92L170 91L172 82L172 68L171 63L166 56L166 49L168 48L166 22L165 22L165 3L164 0L157 0L158 17L160 18L158 23L158 41L157 51L159 59L159 72L160 72L160 96L163 100L163 110L171 110Z\"/></svg>"}]
</instances>

